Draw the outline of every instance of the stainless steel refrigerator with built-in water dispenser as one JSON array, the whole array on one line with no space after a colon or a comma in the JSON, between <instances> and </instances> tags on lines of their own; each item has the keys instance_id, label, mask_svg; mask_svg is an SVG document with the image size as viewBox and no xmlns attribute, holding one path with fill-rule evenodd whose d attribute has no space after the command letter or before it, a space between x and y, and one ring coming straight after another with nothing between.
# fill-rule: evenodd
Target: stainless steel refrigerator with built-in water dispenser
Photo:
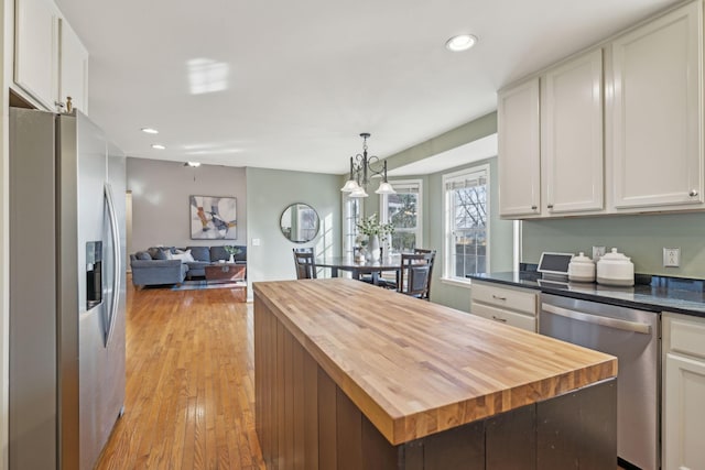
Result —
<instances>
[{"instance_id":1,"label":"stainless steel refrigerator with built-in water dispenser","mask_svg":"<svg viewBox=\"0 0 705 470\"><path fill-rule=\"evenodd\" d=\"M124 402L124 155L10 109L10 469L91 469Z\"/></svg>"}]
</instances>

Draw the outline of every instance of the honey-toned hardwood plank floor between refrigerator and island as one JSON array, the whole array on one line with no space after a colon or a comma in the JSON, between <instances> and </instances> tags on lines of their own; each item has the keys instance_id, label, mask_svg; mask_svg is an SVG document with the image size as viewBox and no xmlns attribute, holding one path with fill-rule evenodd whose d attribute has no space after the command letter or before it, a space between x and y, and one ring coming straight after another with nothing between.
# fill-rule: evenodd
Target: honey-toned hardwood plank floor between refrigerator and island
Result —
<instances>
[{"instance_id":1,"label":"honey-toned hardwood plank floor between refrigerator and island","mask_svg":"<svg viewBox=\"0 0 705 470\"><path fill-rule=\"evenodd\" d=\"M124 415L98 469L264 469L242 289L134 289Z\"/></svg>"}]
</instances>

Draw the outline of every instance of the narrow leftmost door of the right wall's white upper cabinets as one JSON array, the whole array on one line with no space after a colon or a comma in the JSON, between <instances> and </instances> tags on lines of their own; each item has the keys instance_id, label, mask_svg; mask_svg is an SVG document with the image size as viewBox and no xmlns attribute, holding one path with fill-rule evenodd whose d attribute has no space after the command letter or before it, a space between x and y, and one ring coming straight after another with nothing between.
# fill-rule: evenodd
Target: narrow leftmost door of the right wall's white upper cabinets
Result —
<instances>
[{"instance_id":1,"label":"narrow leftmost door of the right wall's white upper cabinets","mask_svg":"<svg viewBox=\"0 0 705 470\"><path fill-rule=\"evenodd\" d=\"M541 210L539 79L501 90L497 101L499 214L538 215Z\"/></svg>"}]
</instances>

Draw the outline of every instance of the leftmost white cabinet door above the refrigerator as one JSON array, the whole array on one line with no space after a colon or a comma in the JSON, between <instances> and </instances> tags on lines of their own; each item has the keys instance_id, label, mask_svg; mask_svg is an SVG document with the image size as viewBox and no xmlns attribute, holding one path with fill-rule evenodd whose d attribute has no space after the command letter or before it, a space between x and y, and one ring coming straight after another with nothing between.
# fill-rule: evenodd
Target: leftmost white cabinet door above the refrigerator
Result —
<instances>
[{"instance_id":1,"label":"leftmost white cabinet door above the refrigerator","mask_svg":"<svg viewBox=\"0 0 705 470\"><path fill-rule=\"evenodd\" d=\"M15 3L14 81L48 110L58 96L58 18L52 1Z\"/></svg>"}]
</instances>

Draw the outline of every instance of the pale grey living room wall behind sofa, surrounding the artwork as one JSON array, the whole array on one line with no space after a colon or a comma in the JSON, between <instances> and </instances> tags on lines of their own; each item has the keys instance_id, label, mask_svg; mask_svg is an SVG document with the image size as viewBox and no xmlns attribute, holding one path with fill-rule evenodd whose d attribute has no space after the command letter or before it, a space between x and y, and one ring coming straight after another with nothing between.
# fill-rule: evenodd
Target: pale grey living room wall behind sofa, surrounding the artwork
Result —
<instances>
[{"instance_id":1,"label":"pale grey living room wall behind sofa, surrounding the artwork","mask_svg":"<svg viewBox=\"0 0 705 470\"><path fill-rule=\"evenodd\" d=\"M245 168L184 166L182 162L128 159L127 188L132 192L133 251L167 247L246 244L247 183ZM192 240L189 196L237 198L236 240Z\"/></svg>"}]
</instances>

